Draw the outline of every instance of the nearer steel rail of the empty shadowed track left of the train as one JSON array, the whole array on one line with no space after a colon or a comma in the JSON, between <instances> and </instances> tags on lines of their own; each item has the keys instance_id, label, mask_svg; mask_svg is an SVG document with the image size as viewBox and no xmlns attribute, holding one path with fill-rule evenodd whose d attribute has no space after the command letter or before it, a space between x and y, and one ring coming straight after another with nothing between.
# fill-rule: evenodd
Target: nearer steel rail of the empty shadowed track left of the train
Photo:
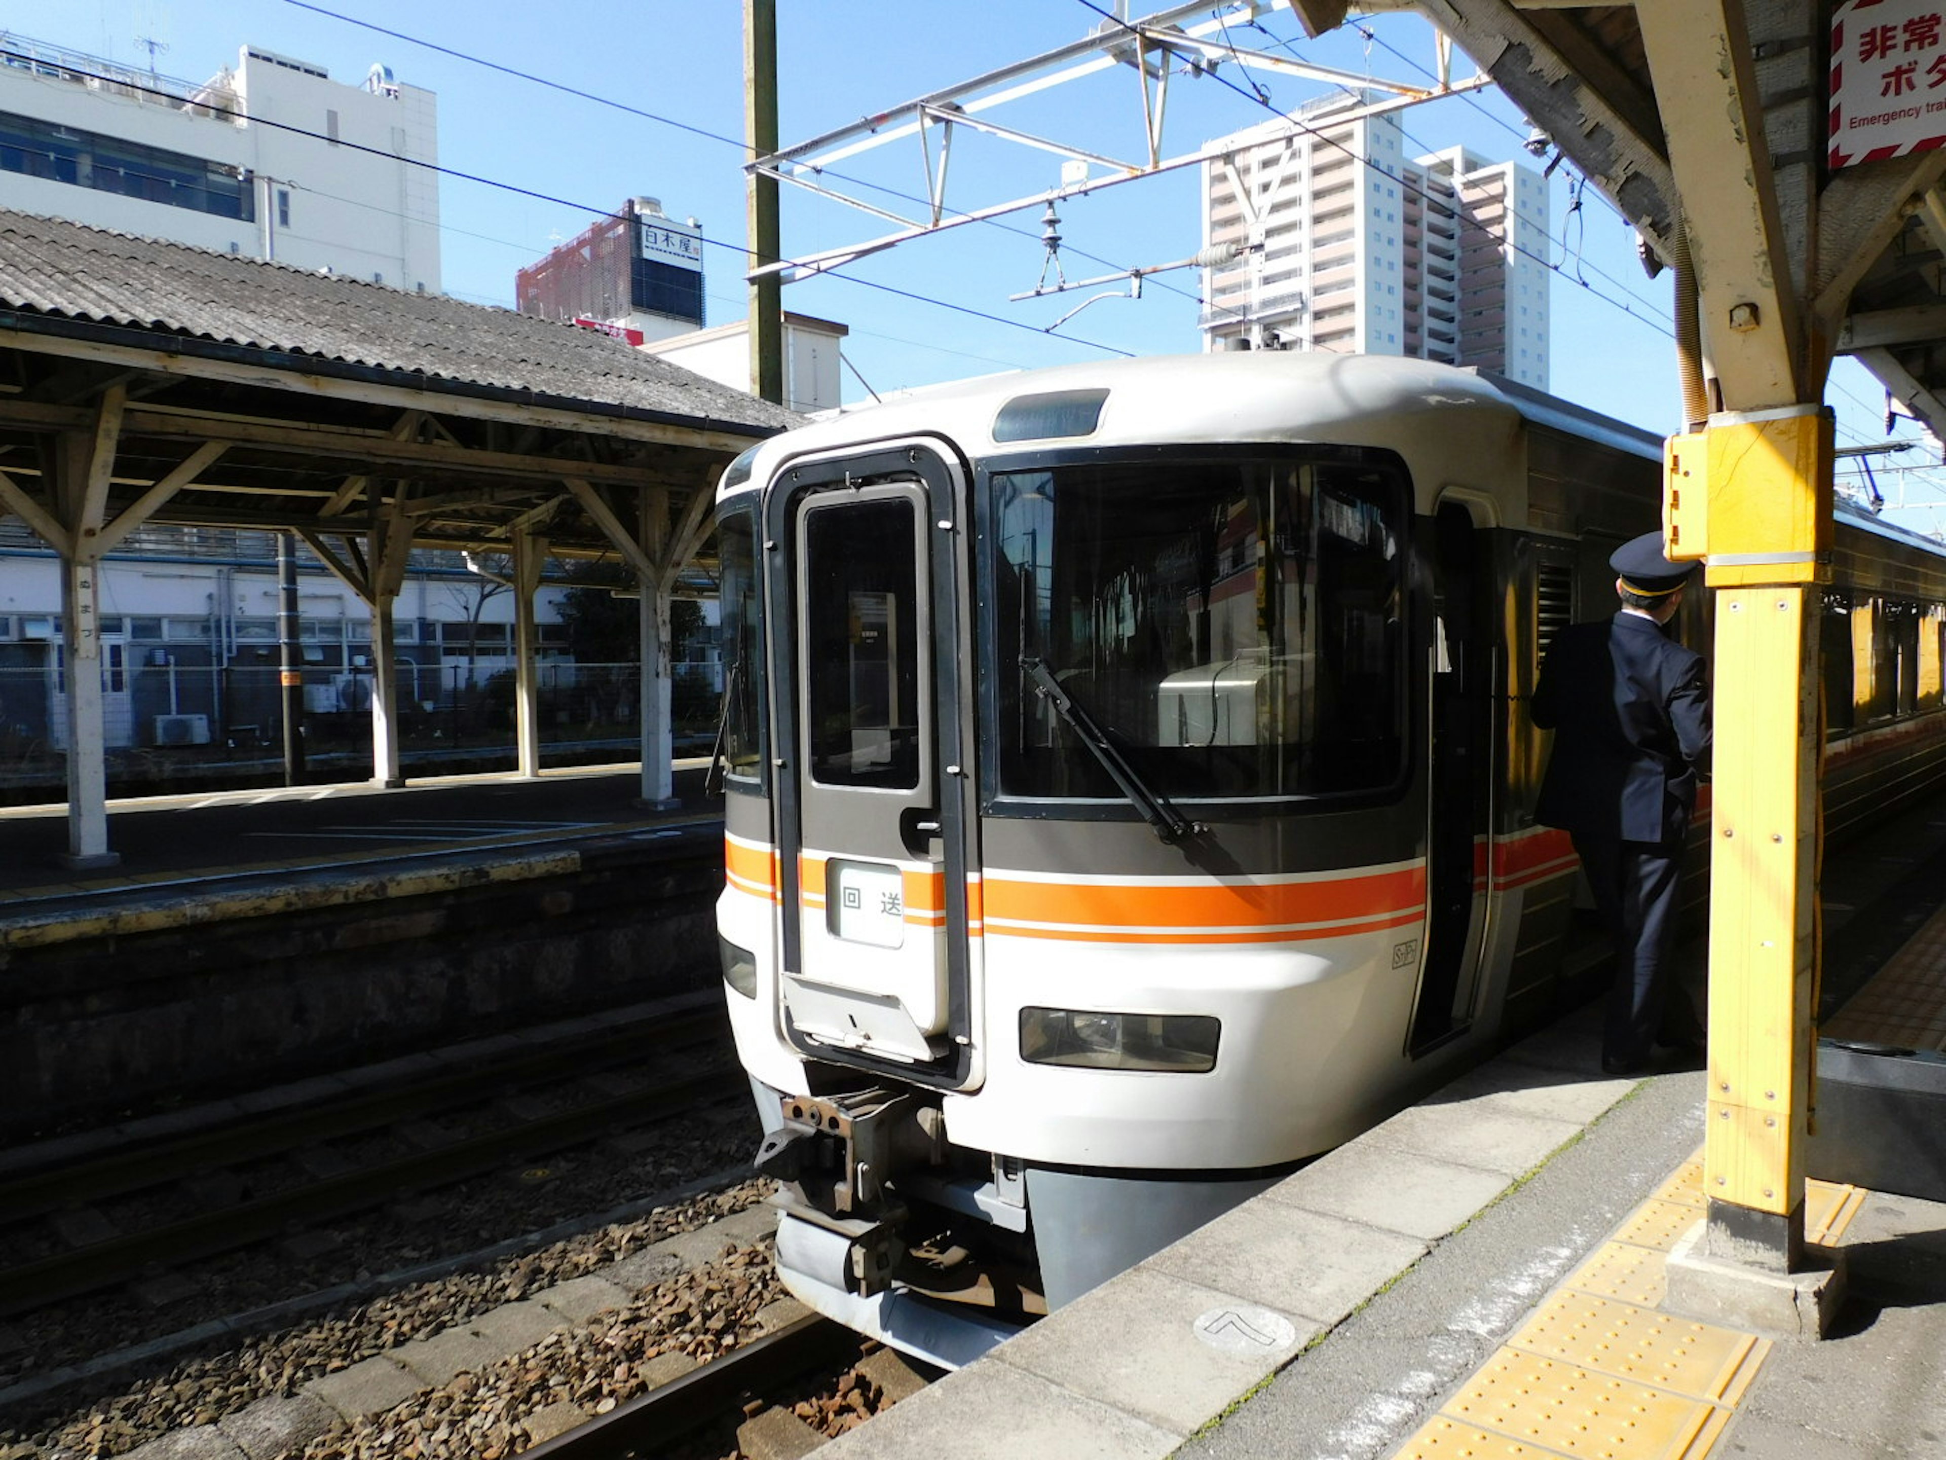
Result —
<instances>
[{"instance_id":1,"label":"nearer steel rail of the empty shadowed track left of the train","mask_svg":"<svg viewBox=\"0 0 1946 1460\"><path fill-rule=\"evenodd\" d=\"M306 1182L257 1201L187 1217L146 1232L91 1242L74 1252L0 1269L0 1316L41 1308L62 1298L97 1293L142 1275L152 1265L212 1258L278 1236L296 1223L344 1217L383 1205L407 1191L450 1186L498 1170L510 1158L580 1145L603 1129L656 1115L669 1104L703 1104L745 1088L734 1067L710 1069L650 1090L595 1100L572 1110L488 1131L434 1150Z\"/></svg>"}]
</instances>

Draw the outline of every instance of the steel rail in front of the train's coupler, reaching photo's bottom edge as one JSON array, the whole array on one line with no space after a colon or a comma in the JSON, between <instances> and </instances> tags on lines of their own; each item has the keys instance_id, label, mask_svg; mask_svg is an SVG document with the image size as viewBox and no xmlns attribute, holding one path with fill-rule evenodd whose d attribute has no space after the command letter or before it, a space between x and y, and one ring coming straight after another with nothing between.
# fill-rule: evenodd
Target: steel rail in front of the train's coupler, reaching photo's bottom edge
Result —
<instances>
[{"instance_id":1,"label":"steel rail in front of the train's coupler, reaching photo's bottom edge","mask_svg":"<svg viewBox=\"0 0 1946 1460\"><path fill-rule=\"evenodd\" d=\"M806 1314L775 1333L730 1349L681 1378L615 1405L584 1425L522 1450L522 1460L597 1460L632 1450L660 1454L669 1441L724 1419L743 1394L858 1355L858 1333Z\"/></svg>"}]
</instances>

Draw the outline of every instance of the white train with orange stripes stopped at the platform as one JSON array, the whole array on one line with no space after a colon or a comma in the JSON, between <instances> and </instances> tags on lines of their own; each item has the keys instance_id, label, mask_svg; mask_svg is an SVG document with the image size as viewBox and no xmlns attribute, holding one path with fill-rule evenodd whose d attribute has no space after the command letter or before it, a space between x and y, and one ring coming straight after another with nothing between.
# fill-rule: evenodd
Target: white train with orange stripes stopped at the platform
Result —
<instances>
[{"instance_id":1,"label":"white train with orange stripes stopped at the platform","mask_svg":"<svg viewBox=\"0 0 1946 1460\"><path fill-rule=\"evenodd\" d=\"M790 1289L965 1363L1559 1008L1594 950L1522 701L1658 500L1656 438L1333 354L739 457L718 927ZM1839 566L1855 804L1938 773L1946 574L1876 526Z\"/></svg>"}]
</instances>

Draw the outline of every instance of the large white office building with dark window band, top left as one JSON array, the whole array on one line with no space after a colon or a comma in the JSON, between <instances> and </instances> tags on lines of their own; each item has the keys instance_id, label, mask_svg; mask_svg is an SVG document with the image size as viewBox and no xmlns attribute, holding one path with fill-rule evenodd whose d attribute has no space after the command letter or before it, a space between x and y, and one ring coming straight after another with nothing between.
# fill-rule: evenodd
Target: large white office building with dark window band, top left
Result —
<instances>
[{"instance_id":1,"label":"large white office building with dark window band, top left","mask_svg":"<svg viewBox=\"0 0 1946 1460\"><path fill-rule=\"evenodd\" d=\"M95 228L440 290L434 93L243 47L193 84L0 39L0 193Z\"/></svg>"}]
</instances>

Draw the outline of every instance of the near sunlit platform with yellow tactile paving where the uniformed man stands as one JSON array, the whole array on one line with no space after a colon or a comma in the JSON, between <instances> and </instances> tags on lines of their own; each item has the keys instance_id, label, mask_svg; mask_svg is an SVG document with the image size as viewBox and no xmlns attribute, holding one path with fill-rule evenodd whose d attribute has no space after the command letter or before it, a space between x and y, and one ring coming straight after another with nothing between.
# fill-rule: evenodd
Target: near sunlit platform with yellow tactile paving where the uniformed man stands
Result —
<instances>
[{"instance_id":1,"label":"near sunlit platform with yellow tactile paving where the uniformed man stands","mask_svg":"<svg viewBox=\"0 0 1946 1460\"><path fill-rule=\"evenodd\" d=\"M1825 899L1825 1032L1946 1045L1946 806L1829 862ZM1808 1240L1849 1267L1823 1341L1664 1312L1703 1219L1705 1073L1605 1078L1600 1020L1506 1049L819 1454L1946 1454L1946 1203L1810 1184ZM1946 1115L1923 1139L1946 1149Z\"/></svg>"}]
</instances>

